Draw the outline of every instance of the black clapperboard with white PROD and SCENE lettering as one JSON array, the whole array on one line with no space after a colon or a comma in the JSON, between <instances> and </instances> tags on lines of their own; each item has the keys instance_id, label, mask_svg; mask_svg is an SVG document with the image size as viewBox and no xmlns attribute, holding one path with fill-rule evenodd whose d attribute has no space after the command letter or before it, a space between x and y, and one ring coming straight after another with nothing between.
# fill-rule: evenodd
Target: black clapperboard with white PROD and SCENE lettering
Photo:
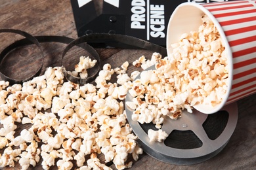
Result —
<instances>
[{"instance_id":1,"label":"black clapperboard with white PROD and SCENE lettering","mask_svg":"<svg viewBox=\"0 0 256 170\"><path fill-rule=\"evenodd\" d=\"M184 2L228 0L104 0L96 14L93 0L71 0L78 37L89 33L129 35L161 46L166 44L169 18Z\"/></svg>"}]
</instances>

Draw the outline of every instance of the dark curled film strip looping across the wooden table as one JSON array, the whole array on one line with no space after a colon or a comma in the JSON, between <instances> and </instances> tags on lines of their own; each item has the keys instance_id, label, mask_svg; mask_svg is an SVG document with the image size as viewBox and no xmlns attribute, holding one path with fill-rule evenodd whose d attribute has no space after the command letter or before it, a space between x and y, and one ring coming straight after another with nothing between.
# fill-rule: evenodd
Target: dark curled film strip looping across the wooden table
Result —
<instances>
[{"instance_id":1,"label":"dark curled film strip looping across the wooden table","mask_svg":"<svg viewBox=\"0 0 256 170\"><path fill-rule=\"evenodd\" d=\"M91 33L89 35L83 35L77 39L72 39L70 37L64 36L54 36L54 35L46 35L46 36L33 36L30 33L26 33L25 31L21 31L18 29L0 29L0 33L15 33L18 35L22 35L24 39L20 39L18 41L13 42L0 53L0 76L2 80L9 81L10 84L21 84L22 82L26 82L31 80L34 76L37 76L41 73L41 69L43 67L43 59L44 52L41 48L41 42L60 42L67 44L62 52L62 71L64 72L64 76L70 82L74 82L75 84L86 84L87 82L92 82L95 80L96 75L100 71L100 56L95 50L95 47L103 47L103 48L139 48L152 50L154 52L159 52L162 56L167 56L166 48L163 46L159 46L158 44L154 44L152 42L144 41L142 39L138 39L135 37L127 36L127 35L116 35L116 34L108 34L108 33ZM24 46L28 46L30 44L35 44L37 48L39 48L41 55L39 56L39 60L41 61L40 67L33 73L32 76L27 78L17 79L11 78L3 72L2 64L3 59L7 57L12 50ZM83 48L85 51L91 54L91 58L96 59L97 64L95 65L96 69L93 73L91 73L87 78L80 78L78 76L74 76L66 69L66 63L64 62L64 58L68 51L74 47L78 46Z\"/></svg>"}]
</instances>

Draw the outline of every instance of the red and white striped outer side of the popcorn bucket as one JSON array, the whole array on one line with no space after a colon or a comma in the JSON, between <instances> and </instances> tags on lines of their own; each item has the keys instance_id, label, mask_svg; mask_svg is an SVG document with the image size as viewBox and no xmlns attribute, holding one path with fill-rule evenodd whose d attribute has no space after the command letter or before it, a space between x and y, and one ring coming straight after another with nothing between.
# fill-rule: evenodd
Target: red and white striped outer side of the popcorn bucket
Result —
<instances>
[{"instance_id":1,"label":"red and white striped outer side of the popcorn bucket","mask_svg":"<svg viewBox=\"0 0 256 170\"><path fill-rule=\"evenodd\" d=\"M223 27L233 57L232 90L228 103L256 92L255 1L203 5Z\"/></svg>"}]
</instances>

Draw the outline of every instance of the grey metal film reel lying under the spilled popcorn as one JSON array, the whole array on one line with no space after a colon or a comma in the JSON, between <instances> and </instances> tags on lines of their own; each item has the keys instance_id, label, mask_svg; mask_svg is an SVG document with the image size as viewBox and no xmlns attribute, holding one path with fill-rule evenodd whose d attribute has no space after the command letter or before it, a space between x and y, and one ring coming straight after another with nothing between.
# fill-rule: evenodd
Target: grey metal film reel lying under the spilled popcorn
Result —
<instances>
[{"instance_id":1,"label":"grey metal film reel lying under the spilled popcorn","mask_svg":"<svg viewBox=\"0 0 256 170\"><path fill-rule=\"evenodd\" d=\"M154 69L150 67L149 69ZM140 78L138 76L137 78ZM126 101L133 97L127 93ZM150 143L147 131L154 124L139 124L131 119L133 110L126 107L127 119L144 152L157 160L176 165L192 165L213 158L228 143L238 121L238 107L232 103L214 114L183 111L178 120L165 118L161 129L169 136L165 141Z\"/></svg>"}]
</instances>

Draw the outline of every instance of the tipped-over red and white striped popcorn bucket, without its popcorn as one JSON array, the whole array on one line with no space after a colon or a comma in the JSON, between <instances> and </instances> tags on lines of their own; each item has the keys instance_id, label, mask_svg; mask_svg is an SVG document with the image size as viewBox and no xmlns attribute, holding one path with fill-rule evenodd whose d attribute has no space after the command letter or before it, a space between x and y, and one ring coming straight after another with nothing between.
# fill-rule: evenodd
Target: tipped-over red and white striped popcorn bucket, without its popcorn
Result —
<instances>
[{"instance_id":1,"label":"tipped-over red and white striped popcorn bucket, without its popcorn","mask_svg":"<svg viewBox=\"0 0 256 170\"><path fill-rule=\"evenodd\" d=\"M182 3L173 12L167 29L167 53L170 44L182 33L198 30L206 14L217 27L228 56L228 92L219 105L195 105L205 114L221 110L248 95L256 93L256 1L221 3Z\"/></svg>"}]
</instances>

